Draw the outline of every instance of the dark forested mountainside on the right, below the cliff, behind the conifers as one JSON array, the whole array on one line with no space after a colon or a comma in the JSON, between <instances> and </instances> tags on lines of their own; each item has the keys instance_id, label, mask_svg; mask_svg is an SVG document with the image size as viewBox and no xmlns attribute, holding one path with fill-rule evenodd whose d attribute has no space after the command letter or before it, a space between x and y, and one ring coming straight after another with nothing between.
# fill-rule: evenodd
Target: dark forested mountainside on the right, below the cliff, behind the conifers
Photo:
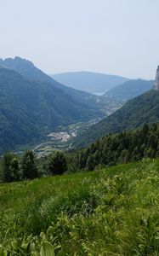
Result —
<instances>
[{"instance_id":1,"label":"dark forested mountainside on the right, below the cliff, behind the conifers","mask_svg":"<svg viewBox=\"0 0 159 256\"><path fill-rule=\"evenodd\" d=\"M115 113L90 126L88 131L79 134L75 138L73 147L82 148L110 133L128 131L156 122L159 122L159 90L150 90L129 100Z\"/></svg>"}]
</instances>

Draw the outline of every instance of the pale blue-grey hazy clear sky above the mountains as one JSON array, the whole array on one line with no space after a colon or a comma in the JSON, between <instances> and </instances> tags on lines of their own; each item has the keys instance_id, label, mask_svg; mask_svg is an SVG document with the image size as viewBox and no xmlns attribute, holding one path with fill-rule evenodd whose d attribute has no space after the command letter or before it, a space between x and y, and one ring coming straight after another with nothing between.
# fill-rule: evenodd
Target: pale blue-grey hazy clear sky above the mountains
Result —
<instances>
[{"instance_id":1,"label":"pale blue-grey hazy clear sky above the mountains","mask_svg":"<svg viewBox=\"0 0 159 256\"><path fill-rule=\"evenodd\" d=\"M0 58L14 56L49 74L154 79L159 0L0 0Z\"/></svg>"}]
</instances>

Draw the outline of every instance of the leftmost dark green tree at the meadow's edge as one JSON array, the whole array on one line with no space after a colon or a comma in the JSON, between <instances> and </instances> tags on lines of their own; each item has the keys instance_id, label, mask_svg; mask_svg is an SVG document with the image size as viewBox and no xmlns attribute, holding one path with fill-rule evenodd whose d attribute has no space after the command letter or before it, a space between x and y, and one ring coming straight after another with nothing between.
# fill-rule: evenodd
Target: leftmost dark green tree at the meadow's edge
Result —
<instances>
[{"instance_id":1,"label":"leftmost dark green tree at the meadow's edge","mask_svg":"<svg viewBox=\"0 0 159 256\"><path fill-rule=\"evenodd\" d=\"M17 156L14 153L5 153L3 155L3 182L13 182L20 180L20 165Z\"/></svg>"}]
</instances>

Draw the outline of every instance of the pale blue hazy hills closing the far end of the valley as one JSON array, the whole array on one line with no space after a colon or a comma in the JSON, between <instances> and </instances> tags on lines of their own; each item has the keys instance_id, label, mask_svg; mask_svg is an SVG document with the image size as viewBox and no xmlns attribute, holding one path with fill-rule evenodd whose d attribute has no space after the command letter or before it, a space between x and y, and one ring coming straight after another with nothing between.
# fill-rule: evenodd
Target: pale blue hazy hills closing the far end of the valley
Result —
<instances>
[{"instance_id":1,"label":"pale blue hazy hills closing the far end of the valley","mask_svg":"<svg viewBox=\"0 0 159 256\"><path fill-rule=\"evenodd\" d=\"M153 81L144 79L126 79L116 75L103 73L75 72L60 73L52 76L62 84L71 88L85 90L92 93L102 92L112 101L127 102L153 87Z\"/></svg>"}]
</instances>

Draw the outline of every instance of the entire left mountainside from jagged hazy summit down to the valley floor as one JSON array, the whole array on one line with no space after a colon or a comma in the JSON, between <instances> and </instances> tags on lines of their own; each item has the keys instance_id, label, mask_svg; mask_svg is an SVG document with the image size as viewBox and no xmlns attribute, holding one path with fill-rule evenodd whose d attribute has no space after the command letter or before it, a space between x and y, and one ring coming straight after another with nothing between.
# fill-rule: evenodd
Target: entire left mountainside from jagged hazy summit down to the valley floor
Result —
<instances>
[{"instance_id":1,"label":"entire left mountainside from jagged hazy summit down to the valley floor","mask_svg":"<svg viewBox=\"0 0 159 256\"><path fill-rule=\"evenodd\" d=\"M60 125L103 118L110 108L105 97L67 88L31 61L1 59L0 66L0 152L39 141Z\"/></svg>"}]
</instances>

